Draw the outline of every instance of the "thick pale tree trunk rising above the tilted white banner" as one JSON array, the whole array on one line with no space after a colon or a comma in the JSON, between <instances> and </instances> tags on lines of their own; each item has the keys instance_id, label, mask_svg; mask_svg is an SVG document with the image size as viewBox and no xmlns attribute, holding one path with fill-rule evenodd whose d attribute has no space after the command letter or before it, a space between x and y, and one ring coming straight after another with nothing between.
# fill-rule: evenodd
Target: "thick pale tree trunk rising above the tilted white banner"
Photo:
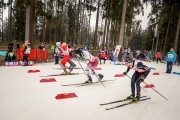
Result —
<instances>
[{"instance_id":1,"label":"thick pale tree trunk rising above the tilted white banner","mask_svg":"<svg viewBox=\"0 0 180 120\"><path fill-rule=\"evenodd\" d=\"M123 45L124 26L125 26L125 18L126 18L126 7L127 7L127 0L124 0L122 18L121 18L120 34L119 34L119 45Z\"/></svg>"}]
</instances>

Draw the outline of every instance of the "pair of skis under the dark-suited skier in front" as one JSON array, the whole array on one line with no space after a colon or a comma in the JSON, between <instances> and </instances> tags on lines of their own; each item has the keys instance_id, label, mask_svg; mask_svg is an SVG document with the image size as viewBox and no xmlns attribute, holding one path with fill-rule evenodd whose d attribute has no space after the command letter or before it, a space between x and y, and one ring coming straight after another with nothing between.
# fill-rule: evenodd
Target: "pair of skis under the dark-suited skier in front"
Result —
<instances>
[{"instance_id":1,"label":"pair of skis under the dark-suited skier in front","mask_svg":"<svg viewBox=\"0 0 180 120\"><path fill-rule=\"evenodd\" d=\"M140 99L140 100L136 101L136 100L133 100L133 99L126 98L126 99L117 100L117 101L113 101L113 102L103 103L103 104L100 104L100 106L129 101L129 102L126 102L126 103L121 104L121 105L117 105L117 106L114 106L114 107L106 108L106 110L111 110L111 109L116 109L116 108L120 108L120 107L123 107L123 106L131 105L131 104L135 104L135 103L138 103L138 102L141 102L141 101L145 101L145 100L151 99L151 98L149 98L147 96L141 96L140 98L143 98L143 99Z\"/></svg>"}]
</instances>

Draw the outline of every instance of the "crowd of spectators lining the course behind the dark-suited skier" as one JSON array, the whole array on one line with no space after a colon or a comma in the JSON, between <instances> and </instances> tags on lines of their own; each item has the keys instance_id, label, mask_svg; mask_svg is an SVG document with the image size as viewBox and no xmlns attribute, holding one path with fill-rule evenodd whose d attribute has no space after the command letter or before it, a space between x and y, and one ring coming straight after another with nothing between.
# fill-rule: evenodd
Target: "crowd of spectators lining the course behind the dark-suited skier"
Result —
<instances>
[{"instance_id":1,"label":"crowd of spectators lining the course behind the dark-suited skier","mask_svg":"<svg viewBox=\"0 0 180 120\"><path fill-rule=\"evenodd\" d=\"M118 53L118 54L117 54ZM175 65L180 65L180 54L176 54ZM120 61L126 62L129 58L135 58L137 60L144 60L144 61L153 61L153 62L167 62L167 53L166 55L162 55L160 52L148 51L148 50L134 50L131 51L128 47L121 47L120 50L113 48L111 50L107 50L106 48L100 50L98 52L98 57L100 60L100 64L105 63L107 59L111 61Z\"/></svg>"}]
</instances>

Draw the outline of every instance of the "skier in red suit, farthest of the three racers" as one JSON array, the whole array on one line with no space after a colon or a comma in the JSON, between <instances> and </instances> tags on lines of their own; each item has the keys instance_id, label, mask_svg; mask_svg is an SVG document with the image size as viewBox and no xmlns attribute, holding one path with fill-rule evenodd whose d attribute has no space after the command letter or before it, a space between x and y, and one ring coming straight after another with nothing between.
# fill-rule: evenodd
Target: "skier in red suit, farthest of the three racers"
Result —
<instances>
[{"instance_id":1,"label":"skier in red suit, farthest of the three racers","mask_svg":"<svg viewBox=\"0 0 180 120\"><path fill-rule=\"evenodd\" d=\"M63 68L64 72L61 73L62 75L71 73L73 68L76 67L76 65L71 61L70 51L71 49L68 47L66 43L63 43L60 48L61 53L64 55L63 59L59 62L60 66ZM66 63L69 63L69 72L66 70Z\"/></svg>"}]
</instances>

